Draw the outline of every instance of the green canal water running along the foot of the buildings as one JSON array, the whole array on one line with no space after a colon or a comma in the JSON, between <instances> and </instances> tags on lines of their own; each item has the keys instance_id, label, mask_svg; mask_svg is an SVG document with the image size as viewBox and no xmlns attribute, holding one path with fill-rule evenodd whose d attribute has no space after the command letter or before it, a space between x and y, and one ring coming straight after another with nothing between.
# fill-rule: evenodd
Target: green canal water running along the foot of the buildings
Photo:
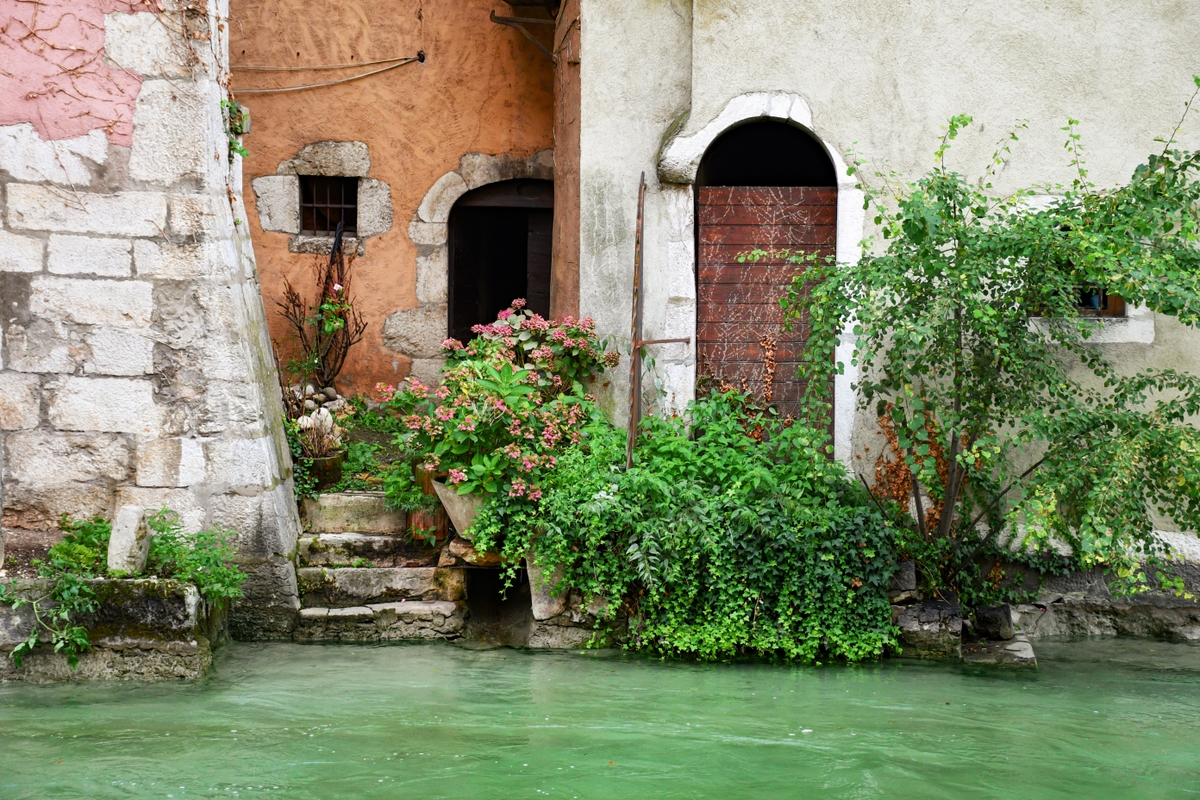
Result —
<instances>
[{"instance_id":1,"label":"green canal water running along the foot of the buildings","mask_svg":"<svg viewBox=\"0 0 1200 800\"><path fill-rule=\"evenodd\" d=\"M227 648L174 685L0 685L0 798L1192 798L1200 645L1040 669Z\"/></svg>"}]
</instances>

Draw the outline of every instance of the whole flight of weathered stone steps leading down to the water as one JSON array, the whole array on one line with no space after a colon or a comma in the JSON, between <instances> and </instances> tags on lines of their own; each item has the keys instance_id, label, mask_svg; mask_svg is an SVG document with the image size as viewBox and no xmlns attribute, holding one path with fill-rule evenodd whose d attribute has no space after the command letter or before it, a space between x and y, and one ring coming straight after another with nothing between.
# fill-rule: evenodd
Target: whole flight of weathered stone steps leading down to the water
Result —
<instances>
[{"instance_id":1,"label":"whole flight of weathered stone steps leading down to the water","mask_svg":"<svg viewBox=\"0 0 1200 800\"><path fill-rule=\"evenodd\" d=\"M305 501L296 551L296 642L452 639L466 625L462 569L437 566L438 547L413 542L382 493Z\"/></svg>"}]
</instances>

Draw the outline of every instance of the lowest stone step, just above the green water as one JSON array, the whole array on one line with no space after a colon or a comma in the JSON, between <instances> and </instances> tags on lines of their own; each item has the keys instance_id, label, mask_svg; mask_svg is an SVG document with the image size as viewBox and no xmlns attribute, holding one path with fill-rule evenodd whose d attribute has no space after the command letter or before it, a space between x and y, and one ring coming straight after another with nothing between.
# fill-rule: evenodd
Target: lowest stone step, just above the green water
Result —
<instances>
[{"instance_id":1,"label":"lowest stone step, just above the green water","mask_svg":"<svg viewBox=\"0 0 1200 800\"><path fill-rule=\"evenodd\" d=\"M348 608L302 608L295 642L402 642L462 636L466 603L400 601Z\"/></svg>"}]
</instances>

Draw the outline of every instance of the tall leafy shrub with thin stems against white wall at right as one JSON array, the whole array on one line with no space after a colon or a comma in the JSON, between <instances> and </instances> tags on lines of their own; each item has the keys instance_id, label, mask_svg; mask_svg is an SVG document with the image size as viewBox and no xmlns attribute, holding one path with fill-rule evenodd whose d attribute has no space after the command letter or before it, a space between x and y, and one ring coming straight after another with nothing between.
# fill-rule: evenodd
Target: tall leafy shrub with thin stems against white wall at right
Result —
<instances>
[{"instance_id":1,"label":"tall leafy shrub with thin stems against white wall at right","mask_svg":"<svg viewBox=\"0 0 1200 800\"><path fill-rule=\"evenodd\" d=\"M1080 287L1105 287L1200 321L1200 154L1172 137L1102 191L1070 121L1078 178L1036 206L1033 191L997 197L994 169L968 182L947 167L970 121L950 120L920 180L876 173L868 204L882 252L868 242L854 265L793 255L806 269L782 302L811 313L802 377L822 386L841 368L834 347L852 324L856 389L893 432L892 494L901 500L902 487L913 509L930 588L979 596L997 582L978 557L1004 541L1042 553L1066 543L1076 569L1104 567L1122 590L1182 590L1144 565L1169 557L1153 512L1200 529L1200 378L1122 373L1091 342L1103 323L1075 303ZM823 413L816 391L809 403Z\"/></svg>"}]
</instances>

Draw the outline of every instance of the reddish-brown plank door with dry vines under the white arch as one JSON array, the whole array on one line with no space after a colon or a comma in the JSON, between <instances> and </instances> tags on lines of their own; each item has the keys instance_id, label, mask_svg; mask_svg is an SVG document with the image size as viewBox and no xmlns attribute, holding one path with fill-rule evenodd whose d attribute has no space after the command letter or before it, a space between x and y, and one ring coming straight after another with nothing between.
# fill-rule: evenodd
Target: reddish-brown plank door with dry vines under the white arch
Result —
<instances>
[{"instance_id":1,"label":"reddish-brown plank door with dry vines under the white arch","mask_svg":"<svg viewBox=\"0 0 1200 800\"><path fill-rule=\"evenodd\" d=\"M779 299L798 267L781 257L738 263L738 255L755 248L832 255L836 200L835 187L700 188L696 342L702 380L744 387L780 414L796 414L804 393L796 368L809 327L802 318L784 332ZM772 343L775 372L768 386Z\"/></svg>"}]
</instances>

